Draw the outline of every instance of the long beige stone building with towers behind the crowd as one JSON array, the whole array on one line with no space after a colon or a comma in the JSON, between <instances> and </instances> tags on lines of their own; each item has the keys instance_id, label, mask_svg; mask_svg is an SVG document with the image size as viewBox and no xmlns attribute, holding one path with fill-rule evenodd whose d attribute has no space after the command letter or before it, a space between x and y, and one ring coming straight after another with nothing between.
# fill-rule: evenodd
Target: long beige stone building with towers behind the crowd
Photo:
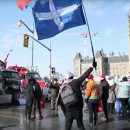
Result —
<instances>
[{"instance_id":1,"label":"long beige stone building with towers behind the crowd","mask_svg":"<svg viewBox=\"0 0 130 130\"><path fill-rule=\"evenodd\" d=\"M96 52L95 59L97 61L97 70L93 71L93 75L128 75L130 72L130 12L128 14L128 55L124 53L115 56L113 52L107 57L103 49ZM82 75L87 68L92 66L92 58L84 57L80 53L76 53L74 58L74 75Z\"/></svg>"}]
</instances>

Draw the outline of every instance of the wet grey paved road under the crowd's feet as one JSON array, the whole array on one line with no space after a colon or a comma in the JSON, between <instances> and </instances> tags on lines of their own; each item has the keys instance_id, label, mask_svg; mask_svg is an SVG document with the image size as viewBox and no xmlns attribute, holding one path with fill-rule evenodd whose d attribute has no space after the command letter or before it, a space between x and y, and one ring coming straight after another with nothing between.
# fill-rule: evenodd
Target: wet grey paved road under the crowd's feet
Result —
<instances>
[{"instance_id":1,"label":"wet grey paved road under the crowd's feet","mask_svg":"<svg viewBox=\"0 0 130 130\"><path fill-rule=\"evenodd\" d=\"M64 130L64 115L59 109L58 112L50 109L50 103L46 104L46 108L42 110L43 120L37 119L26 121L24 116L25 106L0 106L0 130ZM110 117L108 123L100 121L97 127L88 125L88 112L84 112L84 125L86 130L130 130L130 122L125 122L122 117L116 114ZM74 121L72 130L78 130Z\"/></svg>"}]
</instances>

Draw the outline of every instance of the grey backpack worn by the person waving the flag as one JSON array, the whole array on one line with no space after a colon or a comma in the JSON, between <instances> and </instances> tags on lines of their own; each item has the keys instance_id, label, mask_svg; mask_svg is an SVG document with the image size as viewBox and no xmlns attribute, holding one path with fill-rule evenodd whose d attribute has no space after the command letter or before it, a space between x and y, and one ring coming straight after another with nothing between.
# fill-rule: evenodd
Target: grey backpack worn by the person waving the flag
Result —
<instances>
[{"instance_id":1,"label":"grey backpack worn by the person waving the flag","mask_svg":"<svg viewBox=\"0 0 130 130\"><path fill-rule=\"evenodd\" d=\"M60 95L66 107L73 107L78 102L78 96L69 84L62 88Z\"/></svg>"}]
</instances>

